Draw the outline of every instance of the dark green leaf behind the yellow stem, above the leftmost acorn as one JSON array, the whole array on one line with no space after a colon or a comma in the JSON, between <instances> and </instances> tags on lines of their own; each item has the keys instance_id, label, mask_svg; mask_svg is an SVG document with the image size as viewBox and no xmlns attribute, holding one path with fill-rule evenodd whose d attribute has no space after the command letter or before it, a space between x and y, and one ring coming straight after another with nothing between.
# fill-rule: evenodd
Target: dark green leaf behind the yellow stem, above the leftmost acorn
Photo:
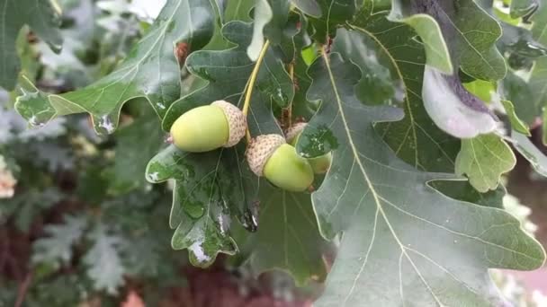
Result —
<instances>
[{"instance_id":1,"label":"dark green leaf behind the yellow stem, above the leftmost acorn","mask_svg":"<svg viewBox=\"0 0 547 307\"><path fill-rule=\"evenodd\" d=\"M226 50L200 50L186 60L188 70L208 82L207 86L191 92L175 101L163 120L164 129L168 130L175 119L187 110L210 104L212 101L226 100L242 103L240 100L255 62L247 57L247 46L251 40L251 25L243 22L229 22L222 28L223 35L237 47ZM294 88L289 74L283 67L281 59L268 49L264 62L257 76L253 104L270 107L270 100L279 106L288 105L294 97ZM243 105L241 104L240 107ZM250 114L252 117L253 115ZM252 121L249 119L249 121ZM251 127L253 128L253 127ZM258 131L251 131L258 132Z\"/></svg>"}]
</instances>

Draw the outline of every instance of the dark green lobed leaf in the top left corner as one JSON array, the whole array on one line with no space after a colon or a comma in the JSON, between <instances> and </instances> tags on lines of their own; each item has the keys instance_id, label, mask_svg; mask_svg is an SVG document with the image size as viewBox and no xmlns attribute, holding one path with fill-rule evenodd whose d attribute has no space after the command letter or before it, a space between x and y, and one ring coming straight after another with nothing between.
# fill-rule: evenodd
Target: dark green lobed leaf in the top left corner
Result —
<instances>
[{"instance_id":1,"label":"dark green lobed leaf in the top left corner","mask_svg":"<svg viewBox=\"0 0 547 307\"><path fill-rule=\"evenodd\" d=\"M50 1L43 0L4 0L0 6L0 86L13 90L20 69L15 40L22 26L28 24L50 48L59 51L63 42L58 31L60 12Z\"/></svg>"}]
</instances>

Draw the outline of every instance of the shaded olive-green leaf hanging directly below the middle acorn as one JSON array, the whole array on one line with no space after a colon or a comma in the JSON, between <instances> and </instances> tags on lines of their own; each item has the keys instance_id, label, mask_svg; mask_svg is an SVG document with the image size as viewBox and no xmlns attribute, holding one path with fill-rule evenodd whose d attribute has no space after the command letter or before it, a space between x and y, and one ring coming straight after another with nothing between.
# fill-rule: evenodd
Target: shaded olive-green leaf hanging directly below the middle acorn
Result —
<instances>
[{"instance_id":1,"label":"shaded olive-green leaf hanging directly below the middle acorn","mask_svg":"<svg viewBox=\"0 0 547 307\"><path fill-rule=\"evenodd\" d=\"M265 180L261 187L258 231L243 233L237 240L247 262L258 274L286 270L298 285L323 280L327 271L321 256L326 241L318 233L309 194L288 193Z\"/></svg>"}]
</instances>

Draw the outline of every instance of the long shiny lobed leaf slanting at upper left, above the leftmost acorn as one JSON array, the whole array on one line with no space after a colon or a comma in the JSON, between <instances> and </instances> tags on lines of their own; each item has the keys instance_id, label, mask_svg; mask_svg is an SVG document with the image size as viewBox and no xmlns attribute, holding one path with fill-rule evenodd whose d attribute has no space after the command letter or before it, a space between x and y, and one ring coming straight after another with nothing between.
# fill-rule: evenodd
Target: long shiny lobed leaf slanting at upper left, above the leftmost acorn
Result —
<instances>
[{"instance_id":1,"label":"long shiny lobed leaf slanting at upper left, above the leftmost acorn","mask_svg":"<svg viewBox=\"0 0 547 307\"><path fill-rule=\"evenodd\" d=\"M148 33L112 74L89 86L64 94L30 94L18 99L15 108L31 124L41 125L57 116L88 112L97 133L112 133L118 126L122 105L146 98L163 118L180 96L180 69L175 44L185 42L202 48L211 39L217 15L212 0L169 0ZM31 100L31 101L30 101Z\"/></svg>"}]
</instances>

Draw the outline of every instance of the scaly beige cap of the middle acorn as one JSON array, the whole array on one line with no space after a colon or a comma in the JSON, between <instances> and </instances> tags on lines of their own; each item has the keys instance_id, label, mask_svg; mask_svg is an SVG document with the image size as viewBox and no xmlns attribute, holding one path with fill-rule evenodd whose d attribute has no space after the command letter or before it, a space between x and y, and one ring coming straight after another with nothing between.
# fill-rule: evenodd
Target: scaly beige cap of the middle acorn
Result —
<instances>
[{"instance_id":1,"label":"scaly beige cap of the middle acorn","mask_svg":"<svg viewBox=\"0 0 547 307\"><path fill-rule=\"evenodd\" d=\"M256 136L247 147L247 162L251 171L256 176L263 176L263 170L266 162L275 150L286 144L285 138L280 135L262 135Z\"/></svg>"}]
</instances>

